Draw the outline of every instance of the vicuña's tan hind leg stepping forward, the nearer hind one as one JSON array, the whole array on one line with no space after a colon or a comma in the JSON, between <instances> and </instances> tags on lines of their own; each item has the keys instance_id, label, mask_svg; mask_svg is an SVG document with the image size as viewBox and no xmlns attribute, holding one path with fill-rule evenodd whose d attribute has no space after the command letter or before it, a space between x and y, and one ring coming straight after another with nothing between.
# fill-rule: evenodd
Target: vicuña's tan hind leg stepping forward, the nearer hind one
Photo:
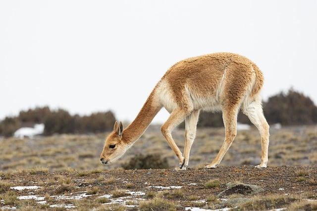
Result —
<instances>
[{"instance_id":1,"label":"vicu\u00f1a's tan hind leg stepping forward, the nearer hind one","mask_svg":"<svg viewBox=\"0 0 317 211\"><path fill-rule=\"evenodd\" d=\"M223 109L222 119L223 119L223 124L225 127L225 139L224 139L224 142L223 142L217 156L213 159L213 161L211 162L210 165L206 166L207 169L214 169L220 164L223 156L228 151L234 138L236 137L236 135L237 135L237 114L238 114L237 108Z\"/></svg>"}]
</instances>

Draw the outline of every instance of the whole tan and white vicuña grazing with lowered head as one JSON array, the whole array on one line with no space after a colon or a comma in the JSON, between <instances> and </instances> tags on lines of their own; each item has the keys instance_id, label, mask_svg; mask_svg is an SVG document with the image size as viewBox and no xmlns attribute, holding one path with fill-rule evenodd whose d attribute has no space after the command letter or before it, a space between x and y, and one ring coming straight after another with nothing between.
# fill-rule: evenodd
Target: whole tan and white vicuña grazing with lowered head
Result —
<instances>
[{"instance_id":1,"label":"whole tan and white vicu\u00f1a grazing with lowered head","mask_svg":"<svg viewBox=\"0 0 317 211\"><path fill-rule=\"evenodd\" d=\"M264 77L248 58L234 53L212 53L174 64L155 86L135 120L125 129L115 123L107 136L100 160L110 164L120 158L138 140L153 118L164 107L170 116L161 132L175 152L179 167L186 169L191 146L196 136L200 110L222 111L224 142L206 168L216 168L237 134L237 115L241 109L259 129L262 143L261 164L267 164L269 126L264 118L260 89ZM171 131L185 120L185 148L181 153Z\"/></svg>"}]
</instances>

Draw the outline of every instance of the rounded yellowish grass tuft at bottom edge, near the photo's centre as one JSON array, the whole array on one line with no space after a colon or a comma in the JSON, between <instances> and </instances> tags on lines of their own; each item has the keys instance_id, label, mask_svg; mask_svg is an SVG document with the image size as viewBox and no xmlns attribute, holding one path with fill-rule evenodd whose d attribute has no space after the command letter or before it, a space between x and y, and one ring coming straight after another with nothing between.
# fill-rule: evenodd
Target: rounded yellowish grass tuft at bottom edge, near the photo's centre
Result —
<instances>
[{"instance_id":1,"label":"rounded yellowish grass tuft at bottom edge, near the photo's centre","mask_svg":"<svg viewBox=\"0 0 317 211\"><path fill-rule=\"evenodd\" d=\"M174 204L162 198L154 198L149 202L141 202L140 211L176 211Z\"/></svg>"}]
</instances>

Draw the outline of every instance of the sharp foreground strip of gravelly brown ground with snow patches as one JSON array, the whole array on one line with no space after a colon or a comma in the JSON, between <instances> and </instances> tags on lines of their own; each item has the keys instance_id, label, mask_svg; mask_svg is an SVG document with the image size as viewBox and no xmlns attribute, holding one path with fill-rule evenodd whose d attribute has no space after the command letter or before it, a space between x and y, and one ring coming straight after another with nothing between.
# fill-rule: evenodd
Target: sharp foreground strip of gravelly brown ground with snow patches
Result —
<instances>
[{"instance_id":1,"label":"sharp foreground strip of gravelly brown ground with snow patches","mask_svg":"<svg viewBox=\"0 0 317 211\"><path fill-rule=\"evenodd\" d=\"M317 210L317 167L34 168L0 178L0 209Z\"/></svg>"}]
</instances>

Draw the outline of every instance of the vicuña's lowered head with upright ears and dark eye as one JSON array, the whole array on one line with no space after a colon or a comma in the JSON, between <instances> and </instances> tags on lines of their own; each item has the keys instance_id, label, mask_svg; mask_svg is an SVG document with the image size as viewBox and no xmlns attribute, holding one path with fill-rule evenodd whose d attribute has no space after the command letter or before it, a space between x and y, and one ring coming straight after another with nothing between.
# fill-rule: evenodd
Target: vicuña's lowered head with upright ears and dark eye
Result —
<instances>
[{"instance_id":1,"label":"vicu\u00f1a's lowered head with upright ears and dark eye","mask_svg":"<svg viewBox=\"0 0 317 211\"><path fill-rule=\"evenodd\" d=\"M102 164L108 165L119 159L128 149L128 144L122 140L123 125L114 123L113 131L106 137L103 152L100 155Z\"/></svg>"}]
</instances>

